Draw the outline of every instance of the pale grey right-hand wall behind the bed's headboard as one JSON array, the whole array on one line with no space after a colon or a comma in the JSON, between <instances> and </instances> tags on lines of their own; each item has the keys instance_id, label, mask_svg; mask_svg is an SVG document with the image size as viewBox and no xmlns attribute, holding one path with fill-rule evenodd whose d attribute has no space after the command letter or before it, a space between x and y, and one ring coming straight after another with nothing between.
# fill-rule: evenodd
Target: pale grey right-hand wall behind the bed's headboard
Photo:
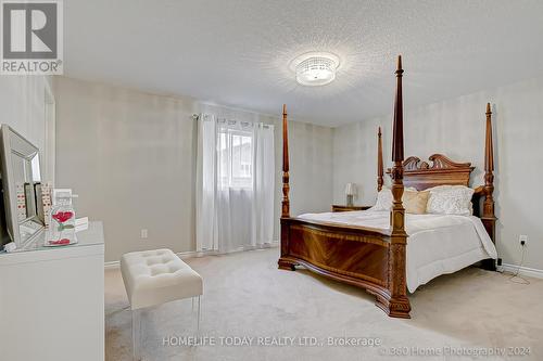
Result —
<instances>
[{"instance_id":1,"label":"pale grey right-hand wall behind the bed's headboard","mask_svg":"<svg viewBox=\"0 0 543 361\"><path fill-rule=\"evenodd\" d=\"M404 87L404 93L409 89ZM391 106L392 106L391 94ZM497 249L505 263L519 263L519 234L528 234L526 267L543 269L543 222L539 180L543 177L543 78L490 89L415 109L405 121L405 154L427 158L443 153L453 160L471 162L473 184L482 184L484 111L493 104ZM383 129L386 167L390 167L392 115L334 129L333 198L344 202L348 182L362 188L358 204L376 196L377 127Z\"/></svg>"}]
</instances>

